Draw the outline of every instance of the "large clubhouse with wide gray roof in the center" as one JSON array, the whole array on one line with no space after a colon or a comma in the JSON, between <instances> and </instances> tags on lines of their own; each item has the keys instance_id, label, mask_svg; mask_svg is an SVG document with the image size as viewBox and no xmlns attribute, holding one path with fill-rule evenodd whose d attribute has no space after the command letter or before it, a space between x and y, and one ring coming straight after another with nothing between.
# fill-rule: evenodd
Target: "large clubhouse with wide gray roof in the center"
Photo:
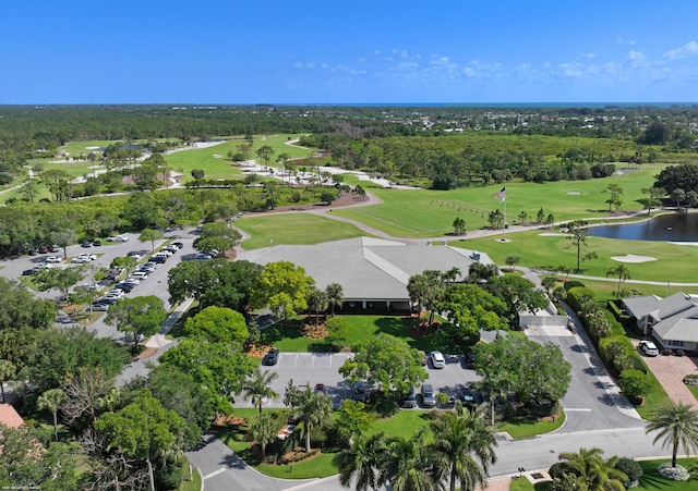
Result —
<instances>
[{"instance_id":1,"label":"large clubhouse with wide gray roof in the center","mask_svg":"<svg viewBox=\"0 0 698 491\"><path fill-rule=\"evenodd\" d=\"M275 245L238 255L258 265L280 260L303 267L318 289L339 283L345 308L411 308L407 283L424 270L458 268L462 277L473 262L492 263L486 254L447 245L405 245L382 238L356 237L316 245Z\"/></svg>"}]
</instances>

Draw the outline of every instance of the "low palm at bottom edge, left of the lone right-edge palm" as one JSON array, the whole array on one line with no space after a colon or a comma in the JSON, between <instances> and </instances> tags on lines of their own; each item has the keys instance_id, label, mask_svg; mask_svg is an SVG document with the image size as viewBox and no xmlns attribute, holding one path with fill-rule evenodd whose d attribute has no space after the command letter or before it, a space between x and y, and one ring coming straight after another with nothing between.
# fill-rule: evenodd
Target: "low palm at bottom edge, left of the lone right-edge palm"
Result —
<instances>
[{"instance_id":1,"label":"low palm at bottom edge, left of the lone right-edge palm","mask_svg":"<svg viewBox=\"0 0 698 491\"><path fill-rule=\"evenodd\" d=\"M628 477L615 468L618 457L604 461L602 455L603 451L600 449L579 449L579 453L563 452L559 458L566 461L563 468L578 476L586 490L624 491L624 482Z\"/></svg>"}]
</instances>

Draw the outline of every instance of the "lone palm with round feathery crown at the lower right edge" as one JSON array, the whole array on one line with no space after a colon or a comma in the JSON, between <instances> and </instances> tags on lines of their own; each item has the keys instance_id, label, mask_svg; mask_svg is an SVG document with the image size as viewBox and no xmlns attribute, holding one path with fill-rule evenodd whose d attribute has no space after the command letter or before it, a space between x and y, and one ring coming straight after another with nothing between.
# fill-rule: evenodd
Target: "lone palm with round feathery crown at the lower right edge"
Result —
<instances>
[{"instance_id":1,"label":"lone palm with round feathery crown at the lower right edge","mask_svg":"<svg viewBox=\"0 0 698 491\"><path fill-rule=\"evenodd\" d=\"M672 467L676 467L678 445L687 454L698 450L698 410L684 403L670 403L654 410L646 432L659 431L654 439L663 439L662 446L672 445Z\"/></svg>"}]
</instances>

